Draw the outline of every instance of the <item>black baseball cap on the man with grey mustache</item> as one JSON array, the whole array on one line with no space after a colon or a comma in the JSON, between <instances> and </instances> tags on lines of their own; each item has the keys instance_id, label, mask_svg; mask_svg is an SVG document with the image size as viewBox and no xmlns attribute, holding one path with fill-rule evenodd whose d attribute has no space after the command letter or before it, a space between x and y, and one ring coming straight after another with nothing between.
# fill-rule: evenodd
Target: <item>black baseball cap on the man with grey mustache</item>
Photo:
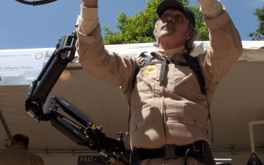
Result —
<instances>
[{"instance_id":1,"label":"black baseball cap on the man with grey mustache","mask_svg":"<svg viewBox=\"0 0 264 165\"><path fill-rule=\"evenodd\" d=\"M182 6L182 4L177 0L164 0L160 2L157 7L158 16L161 17L162 13L169 8L182 10L191 21L191 24L195 27L194 13L189 8Z\"/></svg>"}]
</instances>

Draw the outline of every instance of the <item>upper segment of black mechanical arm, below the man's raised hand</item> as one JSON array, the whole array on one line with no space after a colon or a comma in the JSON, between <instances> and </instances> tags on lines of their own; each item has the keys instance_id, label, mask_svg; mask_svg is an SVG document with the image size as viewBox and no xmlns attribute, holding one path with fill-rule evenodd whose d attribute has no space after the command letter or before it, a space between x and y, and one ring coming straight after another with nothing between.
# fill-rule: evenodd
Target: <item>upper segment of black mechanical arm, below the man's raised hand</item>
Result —
<instances>
[{"instance_id":1,"label":"upper segment of black mechanical arm, below the man's raised hand","mask_svg":"<svg viewBox=\"0 0 264 165\"><path fill-rule=\"evenodd\" d=\"M64 35L59 39L56 49L46 63L45 67L29 88L25 102L25 109L38 121L47 119L43 116L42 107L48 94L54 87L67 64L75 55L76 34Z\"/></svg>"}]
</instances>

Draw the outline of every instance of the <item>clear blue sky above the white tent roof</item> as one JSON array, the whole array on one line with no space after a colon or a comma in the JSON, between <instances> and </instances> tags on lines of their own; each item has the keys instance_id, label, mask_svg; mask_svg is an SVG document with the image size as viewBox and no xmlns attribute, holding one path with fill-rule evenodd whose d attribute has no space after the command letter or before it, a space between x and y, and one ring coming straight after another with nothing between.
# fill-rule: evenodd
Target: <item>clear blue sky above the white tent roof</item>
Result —
<instances>
[{"instance_id":1,"label":"clear blue sky above the white tent roof","mask_svg":"<svg viewBox=\"0 0 264 165\"><path fill-rule=\"evenodd\" d=\"M198 5L196 0L190 4ZM254 8L261 8L264 0L222 0L238 28L242 40L251 40L248 33L256 30L258 21ZM30 6L15 0L0 3L0 50L53 48L59 37L75 29L81 0L58 0L41 6ZM99 0L100 24L115 29L118 13L123 10L134 15L146 6L144 0Z\"/></svg>"}]
</instances>

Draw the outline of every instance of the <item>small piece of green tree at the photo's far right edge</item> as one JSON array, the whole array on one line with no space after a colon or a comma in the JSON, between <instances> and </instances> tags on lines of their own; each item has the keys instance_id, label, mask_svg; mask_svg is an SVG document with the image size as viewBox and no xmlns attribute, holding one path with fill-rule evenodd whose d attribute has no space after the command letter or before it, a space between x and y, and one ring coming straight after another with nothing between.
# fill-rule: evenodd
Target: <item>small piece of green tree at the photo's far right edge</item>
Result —
<instances>
[{"instance_id":1,"label":"small piece of green tree at the photo's far right edge","mask_svg":"<svg viewBox=\"0 0 264 165\"><path fill-rule=\"evenodd\" d=\"M249 37L252 37L253 41L263 41L264 40L264 3L262 8L256 8L253 12L254 15L258 16L258 28L254 33L249 33Z\"/></svg>"}]
</instances>

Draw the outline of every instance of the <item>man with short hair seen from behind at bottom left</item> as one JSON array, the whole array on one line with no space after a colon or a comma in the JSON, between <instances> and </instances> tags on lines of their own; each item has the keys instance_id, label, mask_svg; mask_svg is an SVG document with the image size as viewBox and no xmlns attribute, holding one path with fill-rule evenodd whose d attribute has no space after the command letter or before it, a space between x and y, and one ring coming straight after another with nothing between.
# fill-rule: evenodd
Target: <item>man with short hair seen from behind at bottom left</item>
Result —
<instances>
[{"instance_id":1,"label":"man with short hair seen from behind at bottom left","mask_svg":"<svg viewBox=\"0 0 264 165\"><path fill-rule=\"evenodd\" d=\"M29 139L23 134L12 137L10 148L0 151L0 164L2 165L44 165L41 157L28 150Z\"/></svg>"}]
</instances>

